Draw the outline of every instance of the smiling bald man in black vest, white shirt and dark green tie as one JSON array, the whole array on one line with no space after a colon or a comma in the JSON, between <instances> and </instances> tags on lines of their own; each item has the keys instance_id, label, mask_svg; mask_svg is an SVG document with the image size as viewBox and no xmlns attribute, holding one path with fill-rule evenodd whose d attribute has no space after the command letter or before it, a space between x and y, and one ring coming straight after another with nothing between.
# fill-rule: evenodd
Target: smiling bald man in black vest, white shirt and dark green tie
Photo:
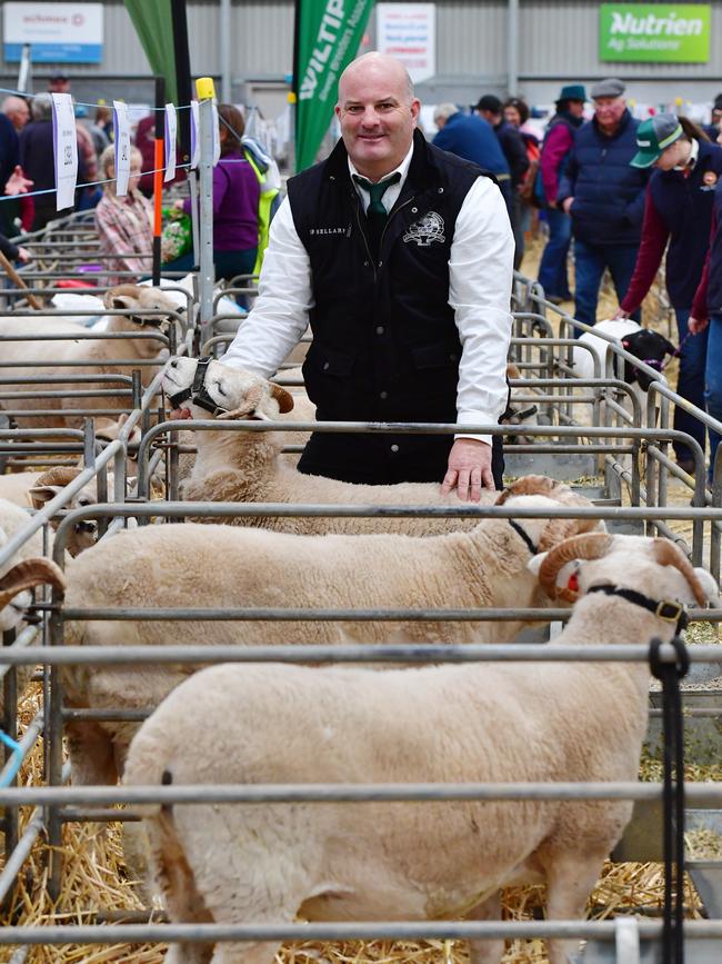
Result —
<instances>
[{"instance_id":1,"label":"smiling bald man in black vest, white shirt and dark green tie","mask_svg":"<svg viewBox=\"0 0 722 964\"><path fill-rule=\"evenodd\" d=\"M223 361L273 375L308 324L320 421L497 424L514 242L491 176L427 143L395 59L342 73L331 156L291 178L260 294ZM491 436L314 433L299 470L352 483L439 481L462 500L501 487Z\"/></svg>"}]
</instances>

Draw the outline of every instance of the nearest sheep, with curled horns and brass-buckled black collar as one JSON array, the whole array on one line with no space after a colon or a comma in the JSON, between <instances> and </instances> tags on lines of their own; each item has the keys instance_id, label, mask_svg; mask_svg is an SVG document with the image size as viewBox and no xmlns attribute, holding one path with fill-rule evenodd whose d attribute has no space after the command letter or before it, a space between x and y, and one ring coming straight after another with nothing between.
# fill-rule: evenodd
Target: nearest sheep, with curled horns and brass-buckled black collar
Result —
<instances>
[{"instance_id":1,"label":"nearest sheep, with curled horns and brass-buckled black collar","mask_svg":"<svg viewBox=\"0 0 722 964\"><path fill-rule=\"evenodd\" d=\"M576 561L589 560L589 561ZM582 598L558 644L669 640L675 624L619 596L716 597L671 543L603 534L537 557ZM571 564L571 565L570 565ZM573 569L571 568L573 566ZM132 742L129 785L636 779L644 664L514 663L373 673L223 665L179 686ZM199 725L201 722L201 725ZM500 918L500 890L546 883L548 920L581 918L631 802L143 807L173 923ZM550 942L562 964L573 940ZM272 964L272 943L176 945L168 964ZM472 962L502 942L473 942Z\"/></svg>"}]
</instances>

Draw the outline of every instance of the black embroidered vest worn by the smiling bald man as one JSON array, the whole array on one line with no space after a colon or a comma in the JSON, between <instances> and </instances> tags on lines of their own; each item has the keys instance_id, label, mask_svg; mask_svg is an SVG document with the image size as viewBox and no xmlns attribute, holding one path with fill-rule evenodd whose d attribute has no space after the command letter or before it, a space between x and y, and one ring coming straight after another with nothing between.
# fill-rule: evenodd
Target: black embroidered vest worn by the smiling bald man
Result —
<instances>
[{"instance_id":1,"label":"black embroidered vest worn by the smiling bald man","mask_svg":"<svg viewBox=\"0 0 722 964\"><path fill-rule=\"evenodd\" d=\"M484 172L419 131L413 143L375 258L342 141L327 161L289 181L311 262L313 344L303 375L319 420L457 420L461 342L448 304L449 255L464 198ZM452 440L314 434L299 470L371 485L441 481ZM494 455L499 471L499 443Z\"/></svg>"}]
</instances>

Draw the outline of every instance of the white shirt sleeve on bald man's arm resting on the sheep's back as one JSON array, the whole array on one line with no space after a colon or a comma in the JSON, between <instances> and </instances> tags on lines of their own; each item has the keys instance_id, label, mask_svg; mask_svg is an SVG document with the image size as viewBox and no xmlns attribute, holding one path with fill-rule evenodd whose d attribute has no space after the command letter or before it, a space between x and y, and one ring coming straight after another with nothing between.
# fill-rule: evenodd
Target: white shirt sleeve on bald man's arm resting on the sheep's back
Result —
<instances>
[{"instance_id":1,"label":"white shirt sleeve on bald man's arm resting on the sheep's back","mask_svg":"<svg viewBox=\"0 0 722 964\"><path fill-rule=\"evenodd\" d=\"M459 211L449 257L449 305L462 346L460 425L495 424L507 406L513 260L514 237L502 193L489 178L478 178ZM490 435L458 437L491 444Z\"/></svg>"}]
</instances>

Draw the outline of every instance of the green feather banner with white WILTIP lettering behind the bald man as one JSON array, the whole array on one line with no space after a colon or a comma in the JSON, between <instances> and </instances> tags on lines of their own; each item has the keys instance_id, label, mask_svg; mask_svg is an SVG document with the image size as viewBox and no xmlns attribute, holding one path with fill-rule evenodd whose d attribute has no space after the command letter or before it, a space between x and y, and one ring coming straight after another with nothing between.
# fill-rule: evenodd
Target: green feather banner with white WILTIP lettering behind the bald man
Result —
<instances>
[{"instance_id":1,"label":"green feather banner with white WILTIP lettering behind the bald man","mask_svg":"<svg viewBox=\"0 0 722 964\"><path fill-rule=\"evenodd\" d=\"M315 161L339 76L357 56L372 6L373 0L297 0L297 171Z\"/></svg>"}]
</instances>

